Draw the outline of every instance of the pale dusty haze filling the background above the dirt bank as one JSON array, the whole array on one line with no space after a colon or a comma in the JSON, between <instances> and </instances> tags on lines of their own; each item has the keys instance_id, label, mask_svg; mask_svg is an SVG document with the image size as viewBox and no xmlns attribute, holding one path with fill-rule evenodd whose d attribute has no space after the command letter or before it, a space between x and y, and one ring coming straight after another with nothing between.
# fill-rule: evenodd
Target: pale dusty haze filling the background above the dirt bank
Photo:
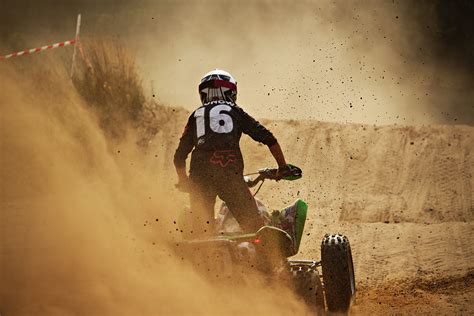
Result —
<instances>
[{"instance_id":1,"label":"pale dusty haze filling the background above the dirt bank","mask_svg":"<svg viewBox=\"0 0 474 316\"><path fill-rule=\"evenodd\" d=\"M472 124L470 1L2 1L5 53L74 34L123 40L149 94L188 110L230 71L258 117Z\"/></svg>"}]
</instances>

